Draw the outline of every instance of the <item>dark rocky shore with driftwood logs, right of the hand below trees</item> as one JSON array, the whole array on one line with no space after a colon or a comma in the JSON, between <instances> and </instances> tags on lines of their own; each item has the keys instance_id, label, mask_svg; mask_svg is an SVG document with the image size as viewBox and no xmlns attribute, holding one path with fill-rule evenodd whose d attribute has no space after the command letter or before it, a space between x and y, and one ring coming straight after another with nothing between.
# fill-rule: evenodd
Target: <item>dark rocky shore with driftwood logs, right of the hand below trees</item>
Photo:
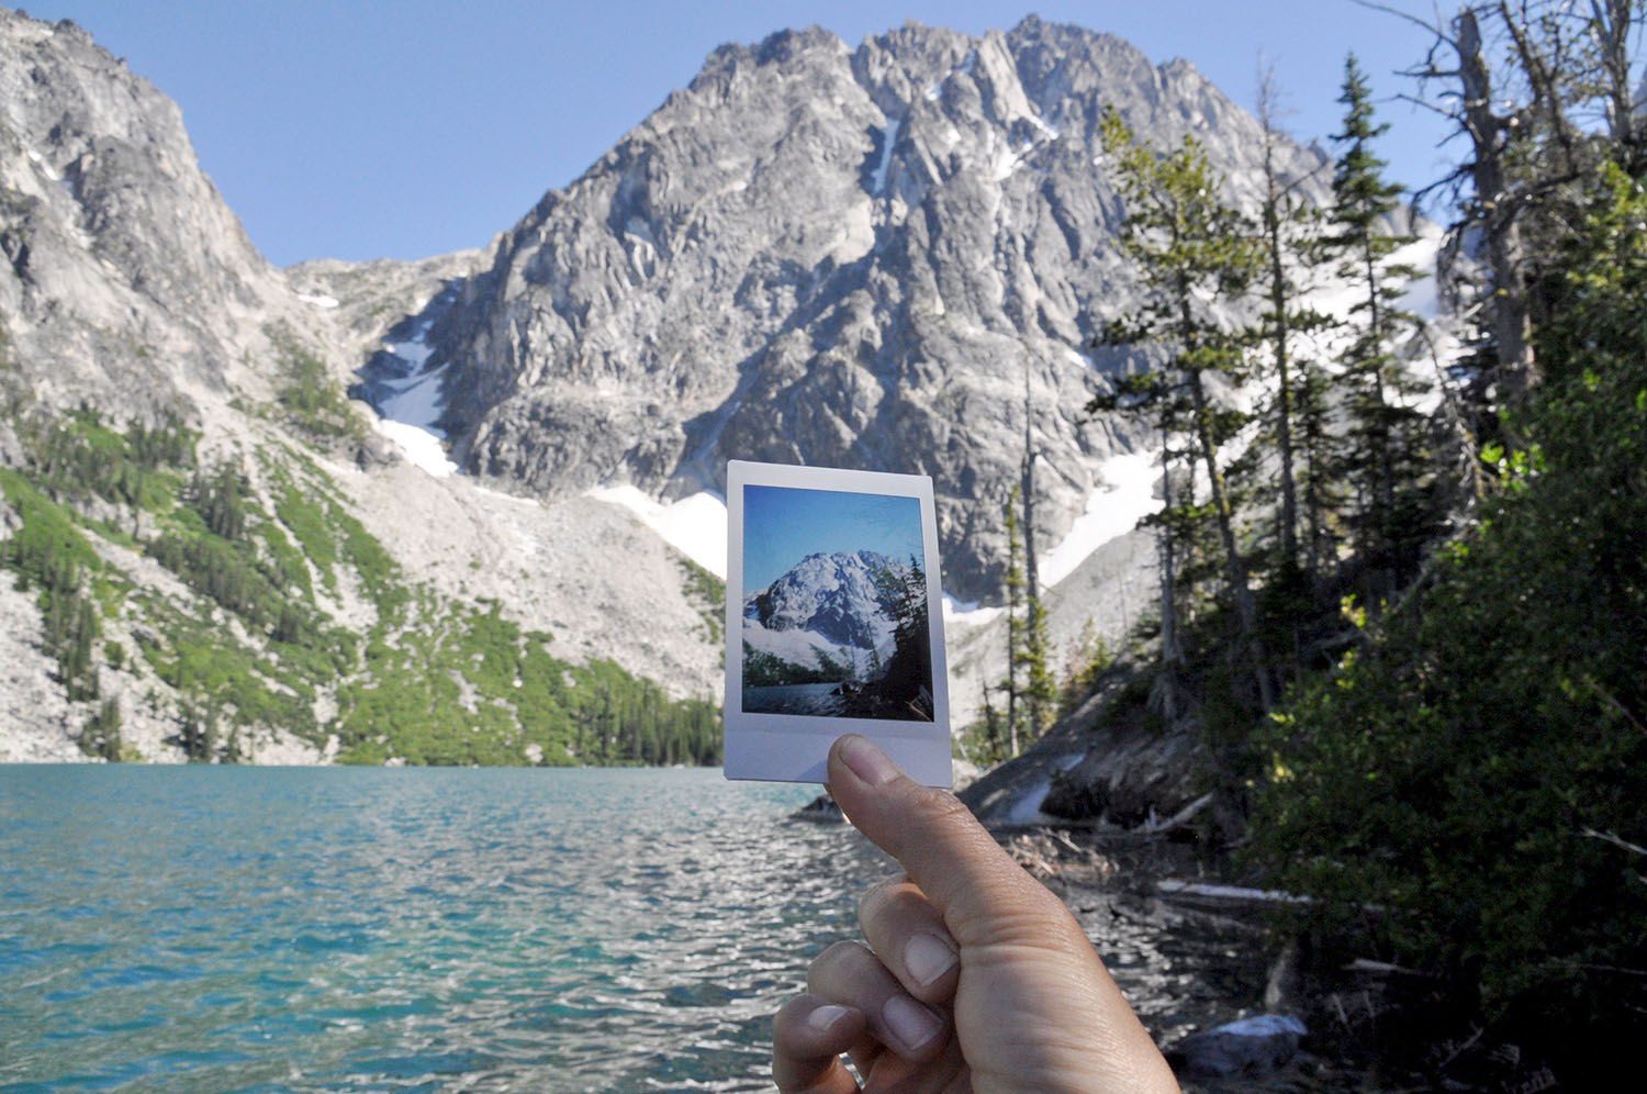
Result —
<instances>
[{"instance_id":1,"label":"dark rocky shore with driftwood logs, right of the hand below trees","mask_svg":"<svg viewBox=\"0 0 1647 1094\"><path fill-rule=\"evenodd\" d=\"M1080 921L1186 1091L1556 1089L1540 1051L1418 970L1321 952L1255 888L1201 788L1186 727L1115 712L1117 674L1021 756L957 794ZM797 819L842 822L828 797Z\"/></svg>"}]
</instances>

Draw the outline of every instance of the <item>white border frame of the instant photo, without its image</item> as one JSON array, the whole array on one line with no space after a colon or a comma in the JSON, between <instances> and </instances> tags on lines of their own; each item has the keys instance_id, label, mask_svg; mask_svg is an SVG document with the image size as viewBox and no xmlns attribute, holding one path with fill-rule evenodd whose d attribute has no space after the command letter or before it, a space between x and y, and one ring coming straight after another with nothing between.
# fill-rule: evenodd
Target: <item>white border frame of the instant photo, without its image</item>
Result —
<instances>
[{"instance_id":1,"label":"white border frame of the instant photo, without its image","mask_svg":"<svg viewBox=\"0 0 1647 1094\"><path fill-rule=\"evenodd\" d=\"M837 718L743 710L743 488L787 486L850 494L916 498L921 503L922 565L927 580L927 639L932 651L932 720ZM909 778L950 786L949 669L944 659L944 588L939 575L937 509L926 475L845 471L782 463L726 463L726 702L728 779L822 783L828 748L843 733L861 733L884 748Z\"/></svg>"}]
</instances>

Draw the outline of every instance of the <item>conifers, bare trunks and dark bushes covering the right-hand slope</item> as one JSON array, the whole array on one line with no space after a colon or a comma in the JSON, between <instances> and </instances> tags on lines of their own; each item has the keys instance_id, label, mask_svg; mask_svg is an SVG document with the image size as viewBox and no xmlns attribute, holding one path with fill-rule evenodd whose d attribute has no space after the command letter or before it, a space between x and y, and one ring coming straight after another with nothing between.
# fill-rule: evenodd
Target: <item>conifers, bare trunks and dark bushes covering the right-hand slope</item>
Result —
<instances>
[{"instance_id":1,"label":"conifers, bare trunks and dark bushes covering the right-hand slope","mask_svg":"<svg viewBox=\"0 0 1647 1094\"><path fill-rule=\"evenodd\" d=\"M1408 194L1354 56L1326 209L1268 175L1243 216L1192 138L1151 147L1112 114L1150 303L1100 341L1161 364L1092 409L1161 438L1158 606L1057 679L1026 456L1010 671L968 745L1015 755L1090 695L1095 728L1191 735L1201 835L1303 898L1283 926L1323 965L1441 987L1573 1081L1647 1013L1644 8L1410 21L1411 94L1456 127L1454 168L1418 198L1449 221L1438 290L1461 343L1402 308ZM1354 287L1339 315L1314 306L1326 270ZM1224 323L1219 300L1258 320ZM1267 395L1234 409L1215 397L1234 386Z\"/></svg>"}]
</instances>

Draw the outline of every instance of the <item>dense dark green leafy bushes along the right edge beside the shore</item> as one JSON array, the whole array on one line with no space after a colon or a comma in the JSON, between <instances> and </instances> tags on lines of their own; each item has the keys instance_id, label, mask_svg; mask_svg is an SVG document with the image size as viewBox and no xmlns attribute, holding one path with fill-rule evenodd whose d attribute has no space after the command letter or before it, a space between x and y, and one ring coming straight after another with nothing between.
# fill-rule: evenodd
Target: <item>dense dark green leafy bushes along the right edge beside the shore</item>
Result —
<instances>
[{"instance_id":1,"label":"dense dark green leafy bushes along the right edge beside the shore","mask_svg":"<svg viewBox=\"0 0 1647 1094\"><path fill-rule=\"evenodd\" d=\"M1495 1015L1647 992L1647 193L1609 171L1497 494L1265 735L1253 860ZM1634 318L1629 318L1634 316Z\"/></svg>"}]
</instances>

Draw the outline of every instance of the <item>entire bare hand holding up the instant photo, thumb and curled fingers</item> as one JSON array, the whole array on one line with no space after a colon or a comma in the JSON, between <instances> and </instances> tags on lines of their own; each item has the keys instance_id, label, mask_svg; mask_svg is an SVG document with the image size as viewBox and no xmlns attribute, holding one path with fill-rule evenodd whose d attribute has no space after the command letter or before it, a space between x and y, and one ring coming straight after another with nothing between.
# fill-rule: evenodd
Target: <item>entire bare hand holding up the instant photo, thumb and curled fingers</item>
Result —
<instances>
[{"instance_id":1,"label":"entire bare hand holding up the instant photo, thumb and curled fingers","mask_svg":"<svg viewBox=\"0 0 1647 1094\"><path fill-rule=\"evenodd\" d=\"M906 875L858 905L772 1028L781 1091L1178 1091L1171 1069L1064 903L954 794L912 783L858 735L828 789Z\"/></svg>"}]
</instances>

